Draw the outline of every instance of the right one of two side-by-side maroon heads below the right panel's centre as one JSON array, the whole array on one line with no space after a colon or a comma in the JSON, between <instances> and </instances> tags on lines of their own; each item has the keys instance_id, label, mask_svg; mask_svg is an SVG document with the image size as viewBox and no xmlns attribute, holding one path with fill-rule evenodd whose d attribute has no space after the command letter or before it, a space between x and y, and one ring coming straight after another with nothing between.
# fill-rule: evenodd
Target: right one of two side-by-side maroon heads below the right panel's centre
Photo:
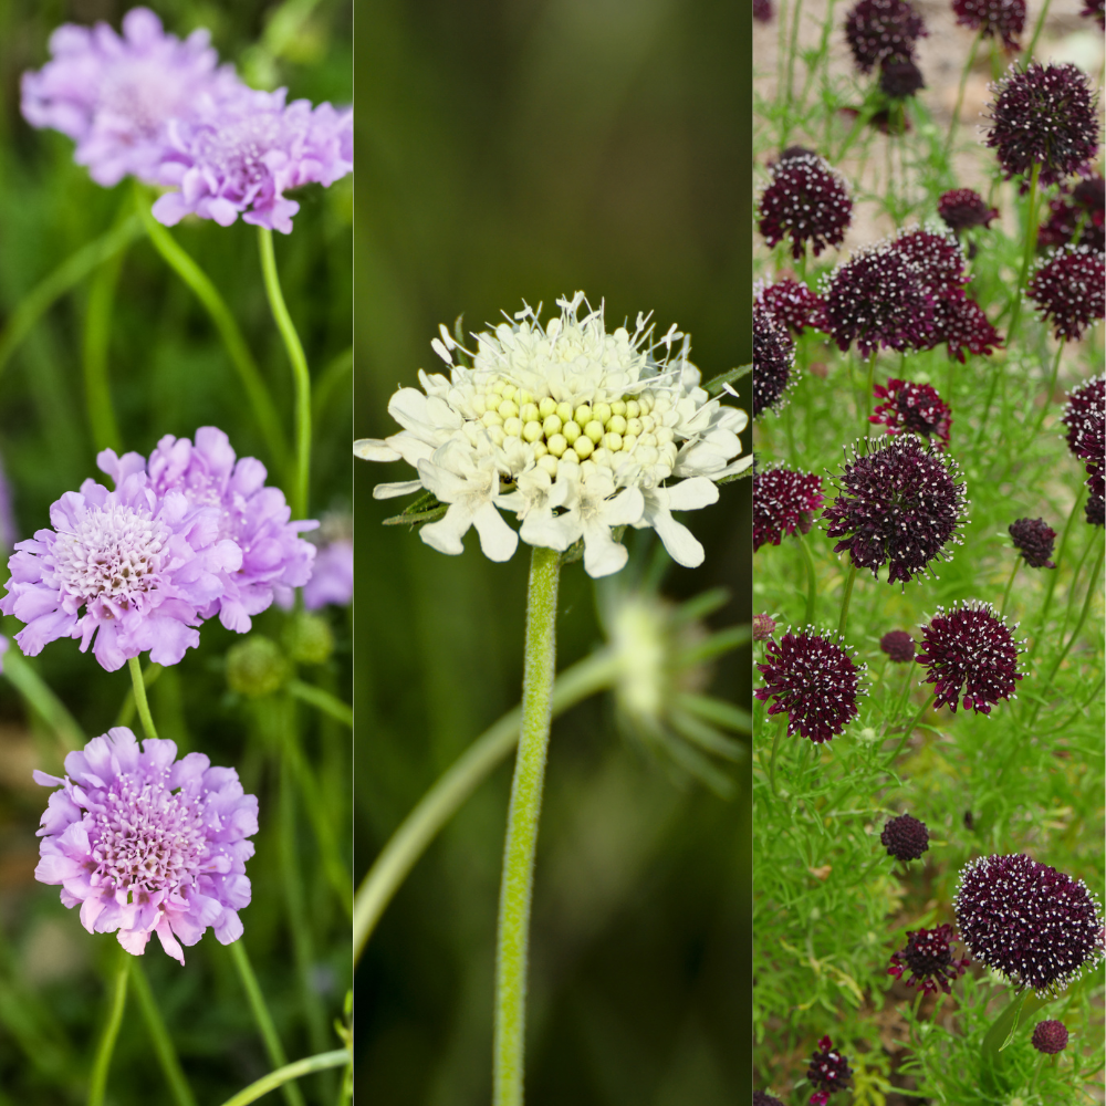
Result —
<instances>
[{"instance_id":1,"label":"right one of two side-by-side maroon heads below the right panel's centre","mask_svg":"<svg viewBox=\"0 0 1106 1106\"><path fill-rule=\"evenodd\" d=\"M1014 698L1022 678L1018 643L990 603L938 607L921 629L921 649L917 659L926 666L925 682L933 685L936 707L948 703L954 714L963 692L964 710L990 714L1000 699Z\"/></svg>"}]
</instances>

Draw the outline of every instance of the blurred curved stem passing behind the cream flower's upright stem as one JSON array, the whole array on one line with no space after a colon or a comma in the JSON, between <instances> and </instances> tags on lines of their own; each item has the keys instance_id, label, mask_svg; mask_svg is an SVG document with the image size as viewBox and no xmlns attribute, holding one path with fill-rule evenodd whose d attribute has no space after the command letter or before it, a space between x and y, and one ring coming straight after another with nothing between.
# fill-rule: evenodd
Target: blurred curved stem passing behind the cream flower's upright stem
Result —
<instances>
[{"instance_id":1,"label":"blurred curved stem passing behind the cream flower's upright stem","mask_svg":"<svg viewBox=\"0 0 1106 1106\"><path fill-rule=\"evenodd\" d=\"M612 686L617 664L607 649L566 668L553 685L551 714L556 718L577 702ZM376 924L396 891L441 827L469 795L518 745L522 709L493 722L437 780L400 823L357 888L353 906L353 956L361 959Z\"/></svg>"}]
</instances>

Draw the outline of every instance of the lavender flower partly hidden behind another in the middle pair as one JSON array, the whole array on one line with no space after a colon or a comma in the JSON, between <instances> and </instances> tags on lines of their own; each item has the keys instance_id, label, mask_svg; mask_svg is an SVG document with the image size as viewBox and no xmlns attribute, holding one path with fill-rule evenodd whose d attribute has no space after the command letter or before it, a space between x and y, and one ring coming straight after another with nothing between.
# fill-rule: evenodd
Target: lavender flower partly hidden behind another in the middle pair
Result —
<instances>
[{"instance_id":1,"label":"lavender flower partly hidden behind another in the middle pair","mask_svg":"<svg viewBox=\"0 0 1106 1106\"><path fill-rule=\"evenodd\" d=\"M220 594L200 608L201 617L218 614L227 629L246 634L250 616L272 603L273 588L302 587L310 581L315 546L299 535L319 523L289 521L291 508L279 488L265 484L265 467L253 457L237 458L217 427L201 426L195 446L167 434L148 462L140 453L121 458L111 449L96 461L116 483L145 472L159 497L181 494L195 508L213 511L219 538L241 550L240 563L220 574Z\"/></svg>"}]
</instances>

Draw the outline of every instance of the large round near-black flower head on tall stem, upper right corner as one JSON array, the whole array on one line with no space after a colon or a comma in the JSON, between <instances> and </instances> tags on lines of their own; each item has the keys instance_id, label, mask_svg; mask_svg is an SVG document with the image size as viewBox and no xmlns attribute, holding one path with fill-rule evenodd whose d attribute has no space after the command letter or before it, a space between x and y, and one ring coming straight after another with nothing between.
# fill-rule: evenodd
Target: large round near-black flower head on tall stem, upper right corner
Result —
<instances>
[{"instance_id":1,"label":"large round near-black flower head on tall stem, upper right corner","mask_svg":"<svg viewBox=\"0 0 1106 1106\"><path fill-rule=\"evenodd\" d=\"M1098 97L1076 65L1011 65L991 86L987 145L1008 177L1041 165L1041 184L1071 176L1098 152Z\"/></svg>"}]
</instances>

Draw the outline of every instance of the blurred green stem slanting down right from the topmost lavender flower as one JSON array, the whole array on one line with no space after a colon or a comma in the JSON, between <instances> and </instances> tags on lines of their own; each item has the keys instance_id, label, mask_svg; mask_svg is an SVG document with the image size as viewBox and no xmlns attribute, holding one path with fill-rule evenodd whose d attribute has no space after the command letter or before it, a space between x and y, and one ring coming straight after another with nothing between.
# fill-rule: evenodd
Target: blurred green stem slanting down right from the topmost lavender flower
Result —
<instances>
[{"instance_id":1,"label":"blurred green stem slanting down right from the topmost lavender flower","mask_svg":"<svg viewBox=\"0 0 1106 1106\"><path fill-rule=\"evenodd\" d=\"M181 249L168 230L154 218L150 212L149 194L142 186L135 188L135 206L154 249L188 285L211 317L211 322L219 332L219 337L222 338L222 344L227 349L227 356L230 357L230 363L234 366L234 371L242 382L242 388L249 399L261 436L265 440L265 446L269 448L276 467L283 471L288 465L288 445L284 441L284 432L281 430L280 417L273 406L269 389L265 387L261 371L246 344L246 338L242 337L242 332L238 328L238 323L234 322L234 316L230 313L226 301L211 283L207 273Z\"/></svg>"}]
</instances>

